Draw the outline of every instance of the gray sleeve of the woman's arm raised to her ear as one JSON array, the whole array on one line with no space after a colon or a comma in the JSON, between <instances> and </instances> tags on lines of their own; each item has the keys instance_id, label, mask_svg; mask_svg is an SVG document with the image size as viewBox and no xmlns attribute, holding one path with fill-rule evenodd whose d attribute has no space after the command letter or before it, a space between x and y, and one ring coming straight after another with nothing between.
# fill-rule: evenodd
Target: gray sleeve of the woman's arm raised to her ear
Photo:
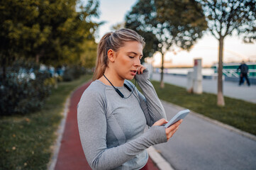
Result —
<instances>
[{"instance_id":1,"label":"gray sleeve of the woman's arm raised to her ear","mask_svg":"<svg viewBox=\"0 0 256 170\"><path fill-rule=\"evenodd\" d=\"M149 77L148 69L145 69L143 74L136 74L135 79L138 81L140 89L144 94L143 96L143 94L138 91L140 106L145 114L147 124L152 126L157 120L161 118L166 119L166 114Z\"/></svg>"}]
</instances>

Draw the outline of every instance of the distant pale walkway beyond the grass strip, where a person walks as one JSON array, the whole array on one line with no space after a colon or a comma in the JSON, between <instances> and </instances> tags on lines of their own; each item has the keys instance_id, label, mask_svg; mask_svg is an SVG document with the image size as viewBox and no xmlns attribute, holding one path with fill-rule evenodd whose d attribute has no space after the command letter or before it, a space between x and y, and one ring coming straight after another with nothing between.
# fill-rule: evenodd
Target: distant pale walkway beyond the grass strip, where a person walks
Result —
<instances>
[{"instance_id":1,"label":"distant pale walkway beyond the grass strip, where a person walks","mask_svg":"<svg viewBox=\"0 0 256 170\"><path fill-rule=\"evenodd\" d=\"M160 74L153 74L152 79L160 81ZM176 86L187 87L187 77L174 76L171 74L164 75L164 81ZM203 91L211 94L217 94L217 80L203 79ZM243 85L238 86L238 82L223 81L223 94L230 98L238 98L244 101L256 103L256 85L252 84L250 87Z\"/></svg>"}]
</instances>

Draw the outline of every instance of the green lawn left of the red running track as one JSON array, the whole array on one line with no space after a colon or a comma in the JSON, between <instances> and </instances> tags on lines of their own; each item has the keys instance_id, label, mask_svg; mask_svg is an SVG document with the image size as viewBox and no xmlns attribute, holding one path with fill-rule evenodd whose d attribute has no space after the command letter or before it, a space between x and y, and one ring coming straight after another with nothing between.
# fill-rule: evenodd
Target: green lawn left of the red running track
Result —
<instances>
[{"instance_id":1,"label":"green lawn left of the red running track","mask_svg":"<svg viewBox=\"0 0 256 170\"><path fill-rule=\"evenodd\" d=\"M36 113L0 117L0 169L47 169L65 100L89 79L61 82Z\"/></svg>"}]
</instances>

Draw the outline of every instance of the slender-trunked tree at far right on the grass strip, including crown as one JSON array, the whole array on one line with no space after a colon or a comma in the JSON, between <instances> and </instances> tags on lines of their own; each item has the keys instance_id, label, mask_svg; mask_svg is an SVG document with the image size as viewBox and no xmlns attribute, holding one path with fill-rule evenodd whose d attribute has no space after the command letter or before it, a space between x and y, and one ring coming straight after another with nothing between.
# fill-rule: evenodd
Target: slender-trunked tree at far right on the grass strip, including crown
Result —
<instances>
[{"instance_id":1,"label":"slender-trunked tree at far right on the grass strip, including crown","mask_svg":"<svg viewBox=\"0 0 256 170\"><path fill-rule=\"evenodd\" d=\"M256 40L255 0L208 0L200 1L204 8L208 30L218 40L218 94L217 105L225 106L223 98L223 45L228 35L238 33L245 42Z\"/></svg>"}]
</instances>

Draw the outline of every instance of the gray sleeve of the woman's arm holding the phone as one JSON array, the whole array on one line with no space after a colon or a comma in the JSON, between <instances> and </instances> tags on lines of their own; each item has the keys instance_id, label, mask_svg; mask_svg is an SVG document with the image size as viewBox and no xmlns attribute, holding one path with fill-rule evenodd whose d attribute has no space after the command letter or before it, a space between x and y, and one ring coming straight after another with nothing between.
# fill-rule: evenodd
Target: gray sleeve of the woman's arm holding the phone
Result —
<instances>
[{"instance_id":1,"label":"gray sleeve of the woman's arm holding the phone","mask_svg":"<svg viewBox=\"0 0 256 170\"><path fill-rule=\"evenodd\" d=\"M77 108L80 140L92 169L113 169L151 145L167 142L165 127L153 126L135 140L107 148L104 109L104 98L96 91L84 93Z\"/></svg>"}]
</instances>

